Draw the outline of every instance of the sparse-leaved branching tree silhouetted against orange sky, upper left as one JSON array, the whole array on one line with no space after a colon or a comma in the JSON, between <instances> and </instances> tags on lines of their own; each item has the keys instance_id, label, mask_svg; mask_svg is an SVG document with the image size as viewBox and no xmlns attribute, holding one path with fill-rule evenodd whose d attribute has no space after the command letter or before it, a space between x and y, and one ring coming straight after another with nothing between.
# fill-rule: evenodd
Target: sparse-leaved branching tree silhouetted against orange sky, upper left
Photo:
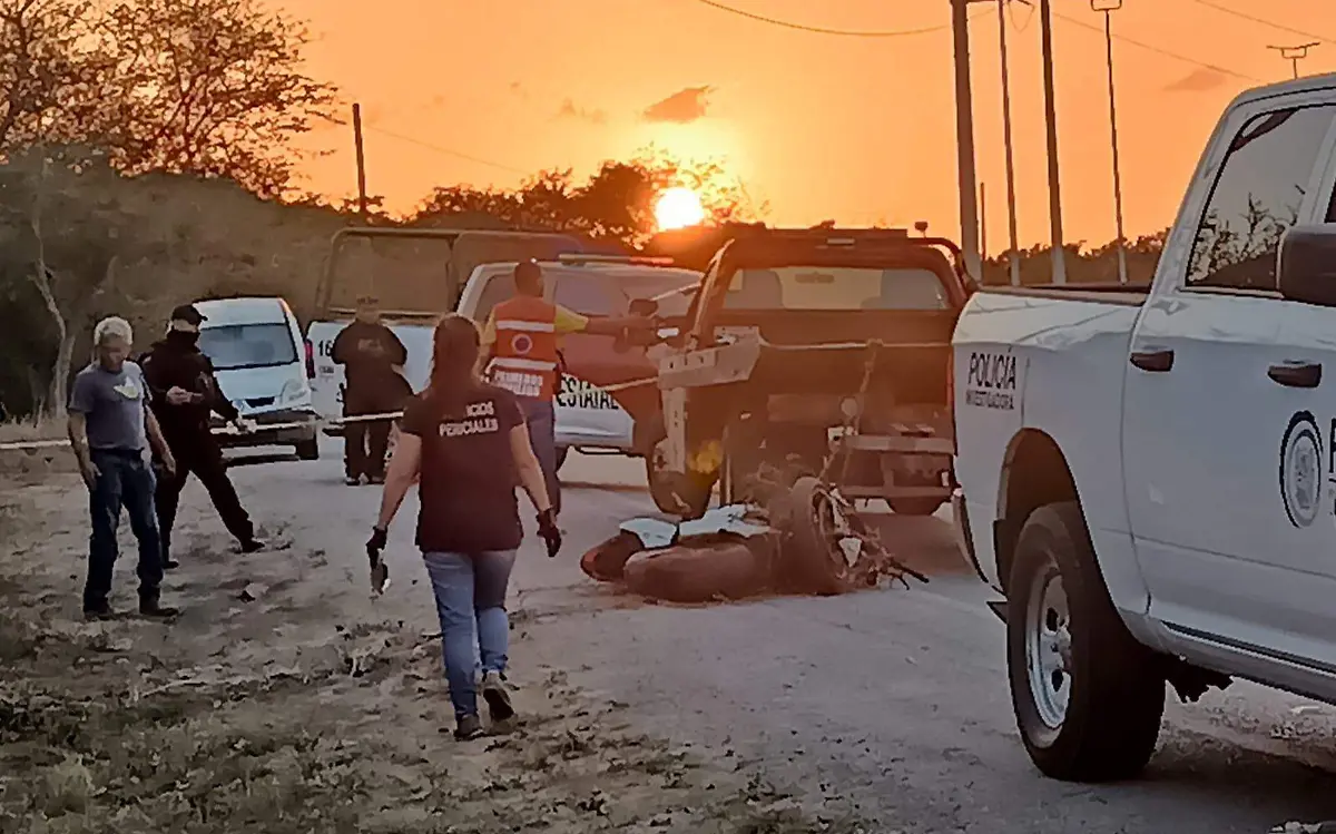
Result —
<instances>
[{"instance_id":1,"label":"sparse-leaved branching tree silhouetted against orange sky, upper left","mask_svg":"<svg viewBox=\"0 0 1336 834\"><path fill-rule=\"evenodd\" d=\"M337 120L305 25L259 0L0 0L0 148L79 143L118 168L290 188L293 139Z\"/></svg>"}]
</instances>

